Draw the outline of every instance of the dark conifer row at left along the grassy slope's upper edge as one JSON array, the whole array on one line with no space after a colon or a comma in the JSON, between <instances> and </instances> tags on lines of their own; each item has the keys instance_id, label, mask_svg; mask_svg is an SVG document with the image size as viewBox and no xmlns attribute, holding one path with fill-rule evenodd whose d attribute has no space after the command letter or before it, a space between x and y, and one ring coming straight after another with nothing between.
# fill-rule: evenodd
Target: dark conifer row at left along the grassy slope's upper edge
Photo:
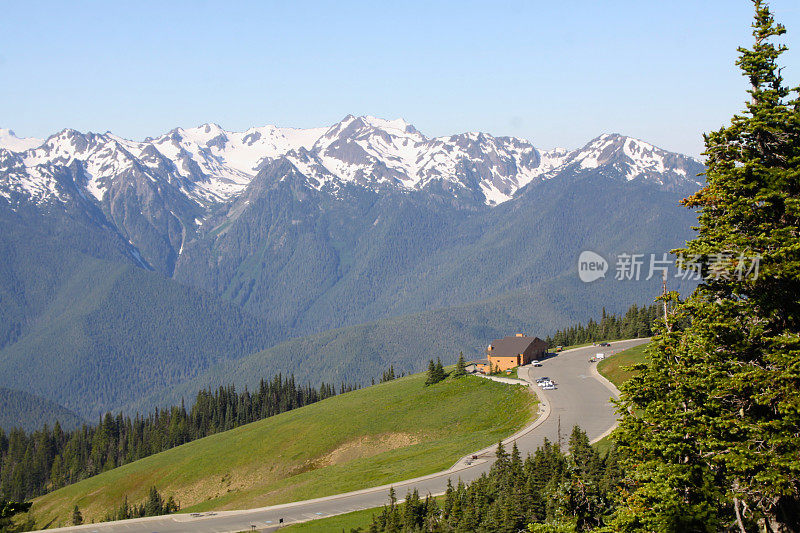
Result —
<instances>
[{"instance_id":1,"label":"dark conifer row at left along the grassy slope's upper edge","mask_svg":"<svg viewBox=\"0 0 800 533\"><path fill-rule=\"evenodd\" d=\"M358 388L342 383L339 393ZM233 385L198 392L191 409L156 409L150 415L106 413L96 426L27 433L0 429L0 500L24 501L106 470L220 431L255 422L337 394L334 385L319 388L295 383L294 376L261 380L253 392Z\"/></svg>"}]
</instances>

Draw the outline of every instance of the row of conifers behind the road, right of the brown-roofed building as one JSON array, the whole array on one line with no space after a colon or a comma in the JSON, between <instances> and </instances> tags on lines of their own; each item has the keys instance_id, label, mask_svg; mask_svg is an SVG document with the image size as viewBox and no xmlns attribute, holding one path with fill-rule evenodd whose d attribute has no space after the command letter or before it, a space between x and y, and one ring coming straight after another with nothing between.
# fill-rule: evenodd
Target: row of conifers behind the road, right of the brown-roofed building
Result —
<instances>
[{"instance_id":1,"label":"row of conifers behind the road, right of the brown-roofed building","mask_svg":"<svg viewBox=\"0 0 800 533\"><path fill-rule=\"evenodd\" d=\"M587 342L650 337L653 335L653 322L661 316L662 309L660 304L643 307L634 304L620 317L607 313L604 307L599 322L589 319L585 326L576 324L567 329L558 330L545 340L550 348L555 348L556 346L572 346Z\"/></svg>"}]
</instances>

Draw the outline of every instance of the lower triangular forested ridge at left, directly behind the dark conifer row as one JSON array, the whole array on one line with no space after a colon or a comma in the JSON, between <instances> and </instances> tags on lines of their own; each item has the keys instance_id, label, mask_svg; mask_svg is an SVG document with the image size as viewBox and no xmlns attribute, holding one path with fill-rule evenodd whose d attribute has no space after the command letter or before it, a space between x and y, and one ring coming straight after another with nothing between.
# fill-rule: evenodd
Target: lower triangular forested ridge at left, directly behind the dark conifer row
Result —
<instances>
[{"instance_id":1,"label":"lower triangular forested ridge at left, directly behind the dark conifer row","mask_svg":"<svg viewBox=\"0 0 800 533\"><path fill-rule=\"evenodd\" d=\"M235 305L159 274L87 259L0 351L0 385L94 418L269 346L271 331Z\"/></svg>"}]
</instances>

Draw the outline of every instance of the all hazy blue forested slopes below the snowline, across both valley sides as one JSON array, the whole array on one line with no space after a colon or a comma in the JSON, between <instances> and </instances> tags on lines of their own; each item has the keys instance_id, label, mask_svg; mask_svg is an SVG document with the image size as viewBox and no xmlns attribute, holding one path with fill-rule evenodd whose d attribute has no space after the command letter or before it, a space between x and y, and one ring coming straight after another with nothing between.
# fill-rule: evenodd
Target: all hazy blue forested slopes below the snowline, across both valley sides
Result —
<instances>
[{"instance_id":1,"label":"all hazy blue forested slopes below the snowline, across both valley sides","mask_svg":"<svg viewBox=\"0 0 800 533\"><path fill-rule=\"evenodd\" d=\"M419 371L434 351L471 357L511 330L544 337L604 306L647 303L652 280L580 283L579 252L644 253L681 242L680 231L663 231L675 227L674 194L597 175L531 185L476 212L427 203L421 193L356 189L311 201L318 193L287 182L274 189L269 201L250 198L218 237L187 245L178 272L192 257L218 257L215 270L184 281L219 296L137 267L111 229L96 236L95 226L71 219L31 225L6 212L0 242L12 253L3 264L28 281L18 285L20 311L8 322L15 342L0 351L0 385L94 418L178 402L208 385L254 386L264 368L334 382L363 381L389 364ZM688 226L691 214L682 216ZM78 238L83 252L71 245ZM214 244L201 252L203 243ZM231 263L237 254L239 266ZM42 294L49 297L28 299ZM367 323L276 345L360 321Z\"/></svg>"}]
</instances>

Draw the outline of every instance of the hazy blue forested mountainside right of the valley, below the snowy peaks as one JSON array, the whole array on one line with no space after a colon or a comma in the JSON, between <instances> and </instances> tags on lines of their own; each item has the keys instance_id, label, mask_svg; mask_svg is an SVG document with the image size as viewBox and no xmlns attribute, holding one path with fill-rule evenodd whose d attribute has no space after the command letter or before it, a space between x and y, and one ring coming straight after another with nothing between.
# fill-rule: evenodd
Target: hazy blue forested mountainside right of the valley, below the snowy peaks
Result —
<instances>
[{"instance_id":1,"label":"hazy blue forested mountainside right of the valley, below the snowy peaks","mask_svg":"<svg viewBox=\"0 0 800 533\"><path fill-rule=\"evenodd\" d=\"M581 251L662 252L689 237L693 221L677 205L681 195L600 172L568 170L475 210L355 185L331 196L299 180L282 166L262 170L231 208L235 218L187 245L176 279L290 324L298 336L511 291L545 298L538 286L575 272ZM642 285L617 291L628 303L650 294ZM584 301L598 303L597 290L585 289Z\"/></svg>"}]
</instances>

